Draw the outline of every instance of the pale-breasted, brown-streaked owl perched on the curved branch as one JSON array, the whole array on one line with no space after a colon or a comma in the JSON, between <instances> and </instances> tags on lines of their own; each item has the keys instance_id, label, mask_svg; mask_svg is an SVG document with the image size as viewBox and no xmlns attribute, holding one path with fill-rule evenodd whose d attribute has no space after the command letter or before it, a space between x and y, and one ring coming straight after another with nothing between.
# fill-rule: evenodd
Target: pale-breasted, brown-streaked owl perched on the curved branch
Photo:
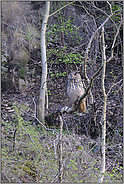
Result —
<instances>
[{"instance_id":1,"label":"pale-breasted, brown-streaked owl perched on the curved branch","mask_svg":"<svg viewBox=\"0 0 124 184\"><path fill-rule=\"evenodd\" d=\"M72 109L76 105L78 98L84 93L83 84L79 72L71 72L68 76L67 94L72 103ZM86 110L86 99L84 98L79 106L79 113L83 113Z\"/></svg>"}]
</instances>

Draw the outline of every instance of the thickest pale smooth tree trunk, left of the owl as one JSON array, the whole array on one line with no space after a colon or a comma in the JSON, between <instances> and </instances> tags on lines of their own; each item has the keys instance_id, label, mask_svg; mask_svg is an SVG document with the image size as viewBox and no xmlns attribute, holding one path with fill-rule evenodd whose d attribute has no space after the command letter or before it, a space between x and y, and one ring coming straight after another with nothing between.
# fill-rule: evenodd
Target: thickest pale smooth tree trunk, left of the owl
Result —
<instances>
[{"instance_id":1,"label":"thickest pale smooth tree trunk, left of the owl","mask_svg":"<svg viewBox=\"0 0 124 184\"><path fill-rule=\"evenodd\" d=\"M45 112L45 91L46 91L46 80L47 80L47 61L46 61L46 45L45 45L45 33L46 25L49 17L50 1L46 2L45 13L41 28L41 61L42 61L42 78L41 78L41 88L39 96L38 105L38 118L41 122L44 121Z\"/></svg>"}]
</instances>

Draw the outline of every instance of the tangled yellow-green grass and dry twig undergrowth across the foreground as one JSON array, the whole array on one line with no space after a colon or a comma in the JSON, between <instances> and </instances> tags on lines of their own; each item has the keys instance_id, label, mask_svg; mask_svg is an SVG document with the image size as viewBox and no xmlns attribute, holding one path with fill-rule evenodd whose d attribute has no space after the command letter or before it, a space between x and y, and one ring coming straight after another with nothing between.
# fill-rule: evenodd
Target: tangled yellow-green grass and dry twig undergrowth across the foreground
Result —
<instances>
[{"instance_id":1,"label":"tangled yellow-green grass and dry twig undergrowth across the foreground","mask_svg":"<svg viewBox=\"0 0 124 184\"><path fill-rule=\"evenodd\" d=\"M13 109L12 121L2 120L1 125L2 183L58 182L59 136L26 121L26 106L13 104ZM88 142L85 136L64 132L63 182L97 182L100 152L94 153ZM122 182L122 168L113 164L106 171L105 182Z\"/></svg>"}]
</instances>

